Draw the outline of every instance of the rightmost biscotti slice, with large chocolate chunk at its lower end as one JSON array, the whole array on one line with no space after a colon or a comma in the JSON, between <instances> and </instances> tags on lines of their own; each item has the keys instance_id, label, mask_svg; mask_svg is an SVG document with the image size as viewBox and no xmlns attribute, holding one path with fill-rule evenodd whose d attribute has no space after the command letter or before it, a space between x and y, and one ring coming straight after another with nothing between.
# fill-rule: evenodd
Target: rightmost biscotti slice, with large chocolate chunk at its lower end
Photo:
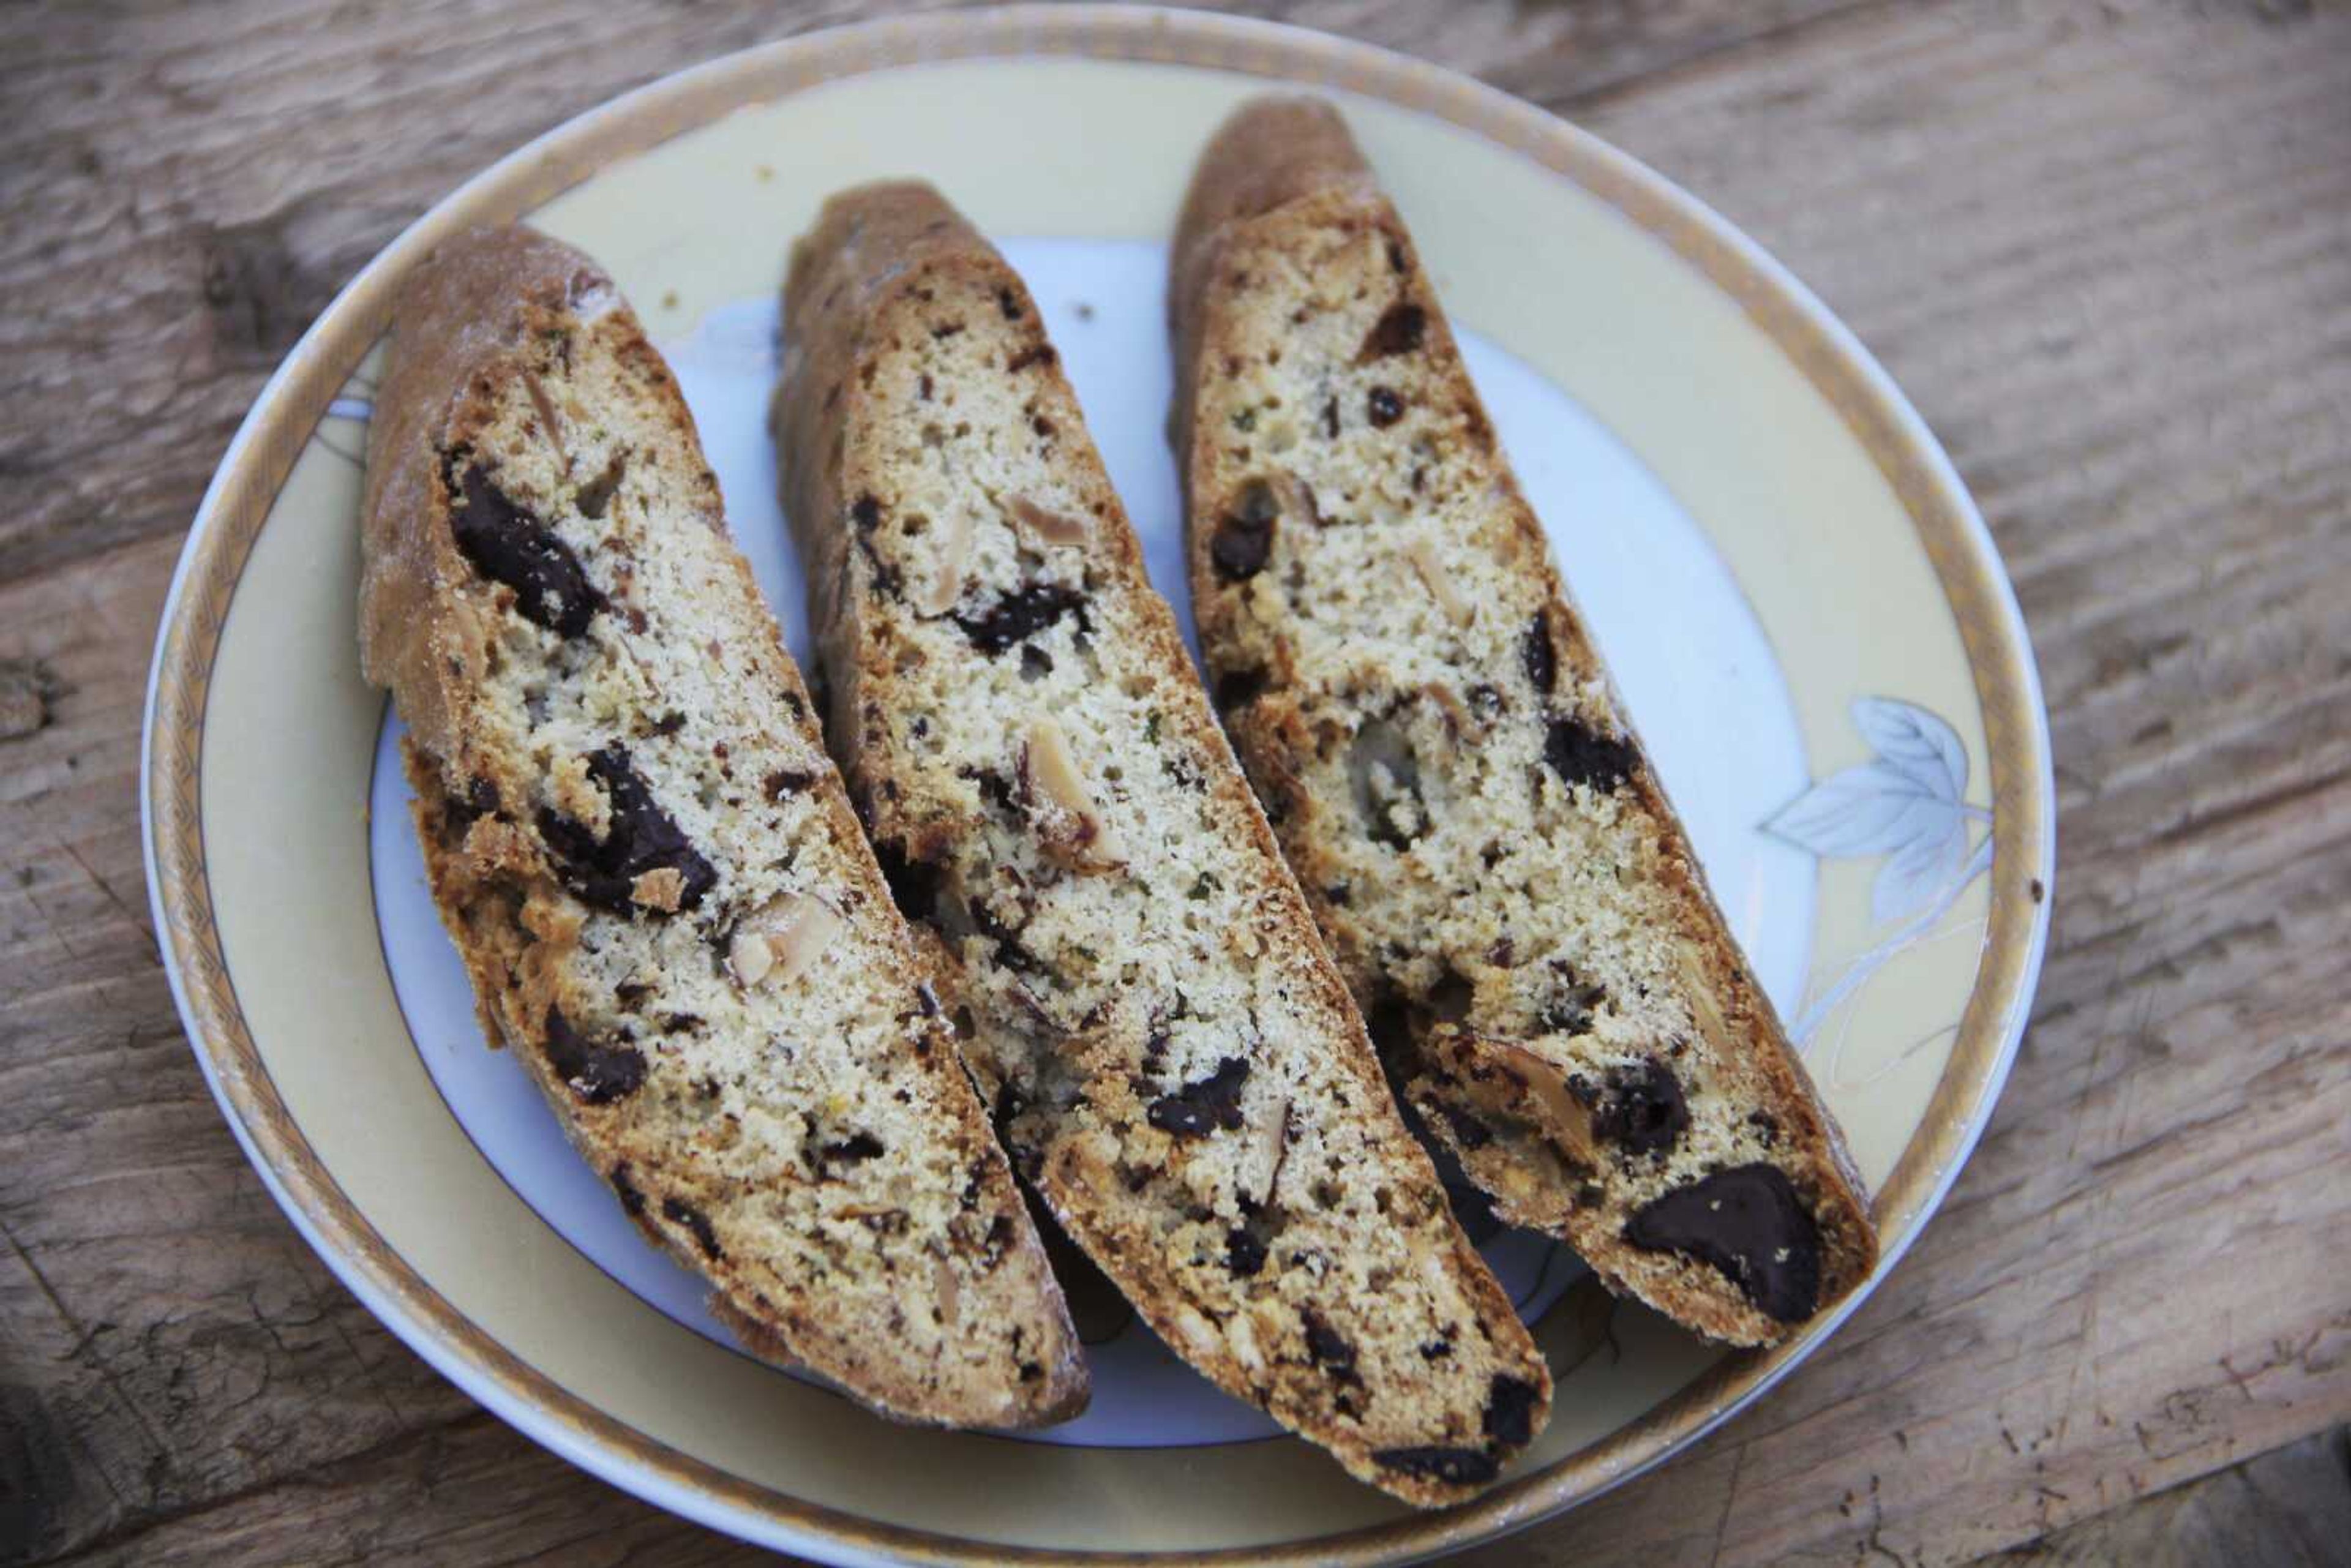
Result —
<instances>
[{"instance_id":1,"label":"rightmost biscotti slice, with large chocolate chunk at its lower end","mask_svg":"<svg viewBox=\"0 0 2351 1568\"><path fill-rule=\"evenodd\" d=\"M1787 1335L1860 1182L1333 108L1215 134L1171 287L1201 651L1382 1060L1502 1218Z\"/></svg>"}]
</instances>

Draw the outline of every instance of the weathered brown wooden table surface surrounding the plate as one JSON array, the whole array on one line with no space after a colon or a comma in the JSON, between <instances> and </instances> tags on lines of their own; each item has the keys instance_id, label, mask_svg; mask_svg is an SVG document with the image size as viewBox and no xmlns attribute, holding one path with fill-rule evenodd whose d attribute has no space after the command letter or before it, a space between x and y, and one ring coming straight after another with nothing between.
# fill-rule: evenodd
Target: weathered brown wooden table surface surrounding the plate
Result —
<instances>
[{"instance_id":1,"label":"weathered brown wooden table surface surrounding the plate","mask_svg":"<svg viewBox=\"0 0 2351 1568\"><path fill-rule=\"evenodd\" d=\"M0 12L0 1559L752 1556L480 1410L280 1218L158 966L139 708L228 435L400 226L879 9ZM2057 738L2034 1025L1916 1251L1759 1408L1462 1561L2351 1561L2351 14L1251 9L1570 115L1806 277L1975 489Z\"/></svg>"}]
</instances>

